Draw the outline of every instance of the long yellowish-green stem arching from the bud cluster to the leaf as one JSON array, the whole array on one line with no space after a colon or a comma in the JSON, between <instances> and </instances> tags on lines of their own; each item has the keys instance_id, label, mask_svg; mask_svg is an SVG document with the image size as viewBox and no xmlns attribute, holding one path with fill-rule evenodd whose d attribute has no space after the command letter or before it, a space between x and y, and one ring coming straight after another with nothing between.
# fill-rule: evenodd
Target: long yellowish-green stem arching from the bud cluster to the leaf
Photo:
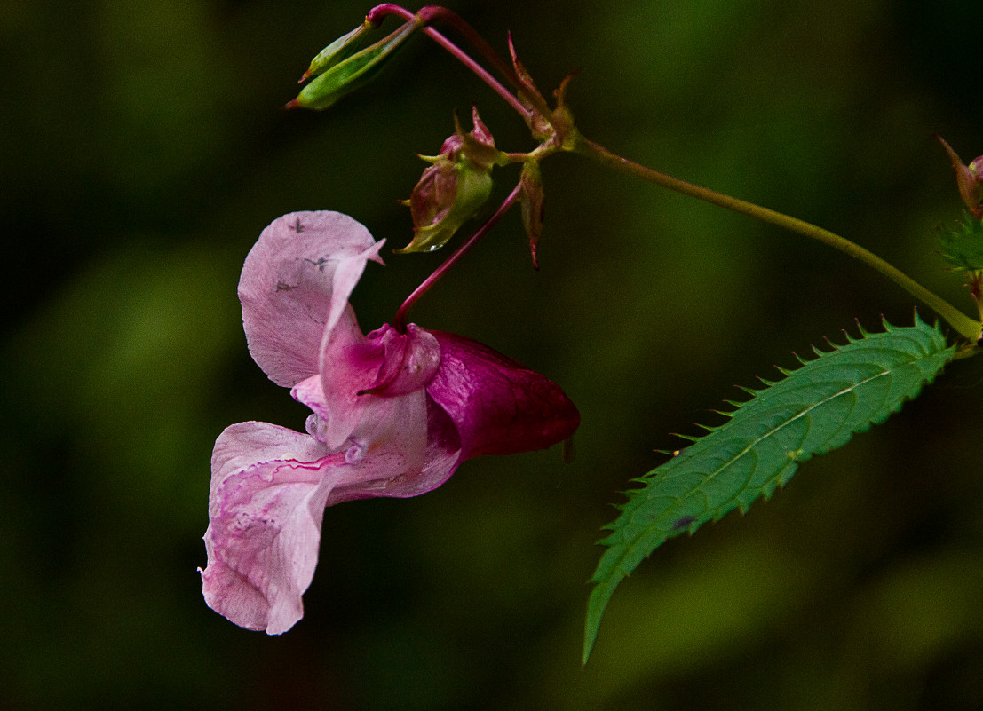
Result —
<instances>
[{"instance_id":1,"label":"long yellowish-green stem arching from the bud cluster to the leaf","mask_svg":"<svg viewBox=\"0 0 983 711\"><path fill-rule=\"evenodd\" d=\"M763 222L778 225L779 227L783 227L791 232L796 232L812 240L818 240L824 245L829 245L839 249L839 251L849 254L855 259L859 259L867 266L879 271L913 297L930 306L936 313L948 321L949 324L963 338L967 338L973 343L980 338L980 324L962 313L949 301L946 301L942 297L928 291L925 289L925 287L911 279L895 266L877 256L877 254L864 249L862 246L855 245L849 240L839 237L839 235L832 233L829 230L824 230L820 227L816 227L815 225L811 225L808 222L798 220L794 217L789 217L788 215L783 215L781 212L770 210L767 207L760 207L752 202L745 202L744 200L737 199L736 197L724 195L720 192L712 191L707 188L701 188L700 186L693 185L692 183L687 183L677 178L673 178L672 176L665 175L665 173L660 173L659 171L652 170L651 168L646 168L644 165L640 165L639 163L635 163L627 158L622 158L619 155L611 153L607 150L607 148L595 143L592 140L588 140L577 132L567 136L563 142L563 145L567 150L571 150L575 153L579 153L583 156L596 160L604 165L614 168L615 170L621 171L622 173L627 173L628 175L635 176L636 178L641 178L649 183L655 183L663 188L668 188L670 191L681 192L684 195L696 197L697 199L704 200L705 202L710 202L712 204L725 207L728 210L733 210L734 212L740 212L745 215L750 215L751 217L756 217Z\"/></svg>"}]
</instances>

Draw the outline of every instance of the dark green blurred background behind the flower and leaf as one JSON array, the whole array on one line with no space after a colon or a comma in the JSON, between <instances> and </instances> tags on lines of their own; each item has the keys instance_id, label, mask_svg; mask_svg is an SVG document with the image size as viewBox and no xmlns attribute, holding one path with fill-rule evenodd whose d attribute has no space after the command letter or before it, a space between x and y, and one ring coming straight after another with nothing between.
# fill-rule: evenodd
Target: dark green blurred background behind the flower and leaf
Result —
<instances>
[{"instance_id":1,"label":"dark green blurred background behind the flower and leaf","mask_svg":"<svg viewBox=\"0 0 983 711\"><path fill-rule=\"evenodd\" d=\"M983 152L977 0L451 6L499 49L511 29L542 88L579 70L588 137L971 307L934 253L960 203L931 134ZM414 152L473 101L499 146L532 147L424 38L331 111L281 110L369 7L0 4L0 709L983 707L974 360L746 518L658 550L580 667L594 541L654 450L680 446L669 433L915 303L824 246L572 156L544 165L542 270L509 215L413 320L559 382L583 418L573 464L474 461L418 499L328 510L282 637L205 607L215 436L305 417L246 351L236 283L262 227L335 209L405 244ZM499 171L502 196L517 175ZM370 265L363 326L447 253Z\"/></svg>"}]
</instances>

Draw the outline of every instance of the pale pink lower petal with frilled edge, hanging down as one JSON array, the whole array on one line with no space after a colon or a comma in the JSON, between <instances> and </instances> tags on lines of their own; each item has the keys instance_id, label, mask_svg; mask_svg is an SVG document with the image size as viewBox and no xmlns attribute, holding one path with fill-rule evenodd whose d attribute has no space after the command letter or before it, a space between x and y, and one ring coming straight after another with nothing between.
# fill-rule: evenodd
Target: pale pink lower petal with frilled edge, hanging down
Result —
<instances>
[{"instance_id":1,"label":"pale pink lower petal with frilled edge, hanging down","mask_svg":"<svg viewBox=\"0 0 983 711\"><path fill-rule=\"evenodd\" d=\"M293 430L240 422L219 435L211 465L205 602L240 627L280 634L304 615L344 457Z\"/></svg>"}]
</instances>

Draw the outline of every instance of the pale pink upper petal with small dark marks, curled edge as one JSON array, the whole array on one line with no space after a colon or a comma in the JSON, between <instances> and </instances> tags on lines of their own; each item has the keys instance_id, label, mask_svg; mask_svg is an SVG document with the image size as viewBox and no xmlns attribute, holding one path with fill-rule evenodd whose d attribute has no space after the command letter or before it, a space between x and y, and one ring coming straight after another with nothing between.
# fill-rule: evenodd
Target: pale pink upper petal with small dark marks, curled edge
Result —
<instances>
[{"instance_id":1,"label":"pale pink upper petal with small dark marks, curled edge","mask_svg":"<svg viewBox=\"0 0 983 711\"><path fill-rule=\"evenodd\" d=\"M339 212L292 212L260 234L243 265L239 299L250 353L277 385L318 372L325 329L340 318L365 269L381 261L369 231Z\"/></svg>"}]
</instances>

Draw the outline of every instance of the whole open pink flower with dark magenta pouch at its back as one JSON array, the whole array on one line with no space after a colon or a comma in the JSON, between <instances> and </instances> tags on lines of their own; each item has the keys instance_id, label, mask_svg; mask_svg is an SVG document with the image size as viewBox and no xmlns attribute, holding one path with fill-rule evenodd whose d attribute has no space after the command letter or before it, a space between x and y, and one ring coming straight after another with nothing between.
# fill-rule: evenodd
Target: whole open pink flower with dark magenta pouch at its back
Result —
<instances>
[{"instance_id":1,"label":"whole open pink flower with dark magenta pouch at its back","mask_svg":"<svg viewBox=\"0 0 983 711\"><path fill-rule=\"evenodd\" d=\"M558 386L479 343L413 324L364 336L348 297L381 245L346 215L295 212L243 266L250 353L313 412L306 434L240 422L215 442L202 589L241 627L301 619L325 507L417 496L467 459L544 449L579 423Z\"/></svg>"}]
</instances>

